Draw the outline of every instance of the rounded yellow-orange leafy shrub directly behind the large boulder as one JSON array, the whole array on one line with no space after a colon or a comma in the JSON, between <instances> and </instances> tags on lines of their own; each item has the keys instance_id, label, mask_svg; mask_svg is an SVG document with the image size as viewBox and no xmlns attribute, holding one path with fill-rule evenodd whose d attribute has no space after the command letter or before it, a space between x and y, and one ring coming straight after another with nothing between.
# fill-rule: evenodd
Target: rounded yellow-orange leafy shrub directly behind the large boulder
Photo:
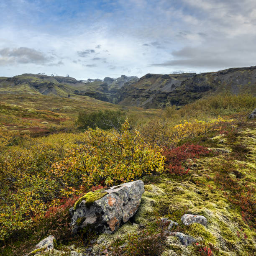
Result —
<instances>
[{"instance_id":1,"label":"rounded yellow-orange leafy shrub directly behind the large boulder","mask_svg":"<svg viewBox=\"0 0 256 256\"><path fill-rule=\"evenodd\" d=\"M89 128L86 134L86 142L52 166L54 177L64 185L63 193L70 184L86 187L120 184L144 174L163 172L164 156L160 148L144 143L138 131L131 131L128 120L120 133Z\"/></svg>"}]
</instances>

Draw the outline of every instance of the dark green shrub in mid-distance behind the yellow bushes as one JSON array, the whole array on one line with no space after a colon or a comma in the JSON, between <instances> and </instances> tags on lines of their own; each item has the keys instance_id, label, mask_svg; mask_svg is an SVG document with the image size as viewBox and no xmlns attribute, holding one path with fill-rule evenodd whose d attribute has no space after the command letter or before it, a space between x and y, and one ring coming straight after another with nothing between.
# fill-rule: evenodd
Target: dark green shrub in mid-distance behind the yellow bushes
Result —
<instances>
[{"instance_id":1,"label":"dark green shrub in mid-distance behind the yellow bushes","mask_svg":"<svg viewBox=\"0 0 256 256\"><path fill-rule=\"evenodd\" d=\"M120 110L99 110L92 113L80 112L77 118L77 125L80 129L96 127L102 130L116 128L119 130L120 125L125 121L125 113Z\"/></svg>"}]
</instances>

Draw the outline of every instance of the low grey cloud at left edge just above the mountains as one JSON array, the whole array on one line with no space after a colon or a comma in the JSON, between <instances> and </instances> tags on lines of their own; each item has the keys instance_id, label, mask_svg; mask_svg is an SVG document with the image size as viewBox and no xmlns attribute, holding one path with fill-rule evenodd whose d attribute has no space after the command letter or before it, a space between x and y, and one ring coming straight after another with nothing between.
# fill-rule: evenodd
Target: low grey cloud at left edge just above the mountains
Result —
<instances>
[{"instance_id":1,"label":"low grey cloud at left edge just above the mountains","mask_svg":"<svg viewBox=\"0 0 256 256\"><path fill-rule=\"evenodd\" d=\"M28 47L4 48L0 50L0 64L46 64L53 58L47 57L41 51L36 51Z\"/></svg>"}]
</instances>

